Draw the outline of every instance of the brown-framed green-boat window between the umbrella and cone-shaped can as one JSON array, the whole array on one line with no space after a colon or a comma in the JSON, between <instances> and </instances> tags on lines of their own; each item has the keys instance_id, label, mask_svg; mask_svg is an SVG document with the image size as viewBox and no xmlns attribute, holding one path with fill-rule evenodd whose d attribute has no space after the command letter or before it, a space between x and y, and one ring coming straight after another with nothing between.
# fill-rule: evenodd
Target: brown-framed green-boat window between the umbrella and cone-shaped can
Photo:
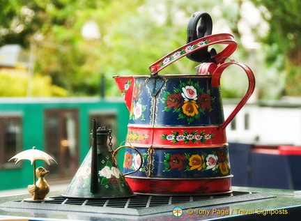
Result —
<instances>
[{"instance_id":1,"label":"brown-framed green-boat window between the umbrella and cone-shaped can","mask_svg":"<svg viewBox=\"0 0 301 221\"><path fill-rule=\"evenodd\" d=\"M78 109L45 110L45 150L59 165L45 165L48 178L69 179L79 166Z\"/></svg>"}]
</instances>

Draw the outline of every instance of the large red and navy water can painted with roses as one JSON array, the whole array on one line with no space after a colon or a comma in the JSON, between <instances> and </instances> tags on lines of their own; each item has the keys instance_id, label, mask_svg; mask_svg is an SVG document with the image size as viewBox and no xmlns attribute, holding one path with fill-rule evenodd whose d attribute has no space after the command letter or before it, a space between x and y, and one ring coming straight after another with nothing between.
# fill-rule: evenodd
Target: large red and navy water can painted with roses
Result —
<instances>
[{"instance_id":1,"label":"large red and navy water can painted with roses","mask_svg":"<svg viewBox=\"0 0 301 221\"><path fill-rule=\"evenodd\" d=\"M245 64L233 59L225 62L237 47L233 36L220 33L200 38L195 20L204 15L208 20L206 13L192 16L192 38L189 30L188 43L153 63L150 75L114 76L130 111L127 142L144 158L138 172L125 176L134 192L207 195L231 191L225 128L252 95L255 79ZM226 47L216 53L208 49L210 45ZM158 75L183 56L203 61L196 75ZM228 66L240 66L249 87L224 121L219 82ZM124 172L137 169L139 160L132 148L126 148Z\"/></svg>"}]
</instances>

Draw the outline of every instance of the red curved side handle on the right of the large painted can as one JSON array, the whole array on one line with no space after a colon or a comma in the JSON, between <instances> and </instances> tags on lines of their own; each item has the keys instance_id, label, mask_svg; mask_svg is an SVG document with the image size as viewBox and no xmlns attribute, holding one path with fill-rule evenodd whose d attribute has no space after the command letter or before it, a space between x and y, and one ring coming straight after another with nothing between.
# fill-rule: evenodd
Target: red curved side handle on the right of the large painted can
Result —
<instances>
[{"instance_id":1,"label":"red curved side handle on the right of the large painted can","mask_svg":"<svg viewBox=\"0 0 301 221\"><path fill-rule=\"evenodd\" d=\"M238 103L236 108L233 110L233 112L228 116L226 121L224 121L224 123L222 123L222 125L218 128L219 130L224 130L226 128L226 126L233 120L234 116L236 116L236 114L240 111L240 109L243 107L243 105L245 105L245 103L247 102L249 97L252 96L252 93L254 92L254 89L255 89L255 77L254 77L252 70L248 66L246 66L244 63L240 63L240 62L223 63L217 69L215 69L215 72L213 73L213 77L211 80L211 86L219 87L220 78L222 76L223 71L232 64L236 64L236 65L240 66L243 70L245 70L245 73L247 73L247 77L249 79L249 87L247 89L247 92L245 93L245 96L242 98L242 100L240 100L240 102Z\"/></svg>"}]
</instances>

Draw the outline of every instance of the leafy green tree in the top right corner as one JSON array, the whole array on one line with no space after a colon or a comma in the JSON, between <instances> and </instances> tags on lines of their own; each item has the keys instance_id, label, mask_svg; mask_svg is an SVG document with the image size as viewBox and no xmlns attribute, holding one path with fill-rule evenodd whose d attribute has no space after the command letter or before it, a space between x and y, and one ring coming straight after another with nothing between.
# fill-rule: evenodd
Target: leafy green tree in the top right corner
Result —
<instances>
[{"instance_id":1,"label":"leafy green tree in the top right corner","mask_svg":"<svg viewBox=\"0 0 301 221\"><path fill-rule=\"evenodd\" d=\"M300 96L301 89L301 1L252 0L270 24L268 34L261 39L266 61L278 72L286 73L282 95ZM275 77L279 77L276 75Z\"/></svg>"}]
</instances>

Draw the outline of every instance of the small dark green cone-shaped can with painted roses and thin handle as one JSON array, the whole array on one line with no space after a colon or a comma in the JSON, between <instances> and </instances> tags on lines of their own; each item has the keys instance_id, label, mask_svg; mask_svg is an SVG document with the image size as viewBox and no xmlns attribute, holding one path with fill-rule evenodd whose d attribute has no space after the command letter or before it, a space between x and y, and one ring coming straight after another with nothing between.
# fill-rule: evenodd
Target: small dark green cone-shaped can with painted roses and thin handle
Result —
<instances>
[{"instance_id":1,"label":"small dark green cone-shaped can with painted roses and thin handle","mask_svg":"<svg viewBox=\"0 0 301 221\"><path fill-rule=\"evenodd\" d=\"M131 197L134 195L125 175L122 174L116 164L116 153L123 147L133 148L132 146L120 146L116 151L111 148L111 130L106 127L96 129L96 120L93 119L93 146L88 151L82 165L77 170L68 189L63 197L76 198L118 198ZM133 148L137 151L136 148ZM139 151L138 155L141 155ZM142 155L141 155L142 159ZM142 161L141 161L142 162ZM141 168L128 173L132 174Z\"/></svg>"}]
</instances>

